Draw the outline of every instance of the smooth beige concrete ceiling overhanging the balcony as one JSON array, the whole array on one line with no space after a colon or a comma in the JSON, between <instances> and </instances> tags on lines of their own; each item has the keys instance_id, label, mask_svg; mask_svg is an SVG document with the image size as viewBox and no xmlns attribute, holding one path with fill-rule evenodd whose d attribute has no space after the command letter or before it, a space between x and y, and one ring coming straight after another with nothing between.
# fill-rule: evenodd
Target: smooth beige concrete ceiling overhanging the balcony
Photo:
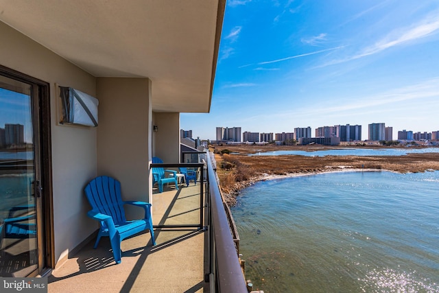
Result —
<instances>
[{"instance_id":1,"label":"smooth beige concrete ceiling overhanging the balcony","mask_svg":"<svg viewBox=\"0 0 439 293\"><path fill-rule=\"evenodd\" d=\"M95 77L150 78L157 112L211 105L226 0L0 0L0 21Z\"/></svg>"}]
</instances>

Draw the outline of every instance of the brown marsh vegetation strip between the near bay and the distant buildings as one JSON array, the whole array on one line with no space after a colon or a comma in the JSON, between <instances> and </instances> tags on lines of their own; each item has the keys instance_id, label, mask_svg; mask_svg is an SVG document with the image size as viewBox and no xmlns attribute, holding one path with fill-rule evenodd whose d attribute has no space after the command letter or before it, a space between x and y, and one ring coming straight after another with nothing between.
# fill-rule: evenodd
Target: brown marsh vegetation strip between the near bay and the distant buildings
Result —
<instances>
[{"instance_id":1,"label":"brown marsh vegetation strip between the near bay and the distant buildings","mask_svg":"<svg viewBox=\"0 0 439 293\"><path fill-rule=\"evenodd\" d=\"M217 174L224 198L228 204L233 205L239 190L256 180L263 180L269 176L312 174L342 169L385 169L400 173L439 170L439 154L437 153L406 156L248 156L249 153L272 150L312 151L328 148L319 145L215 146ZM225 149L233 154L221 154L221 151Z\"/></svg>"}]
</instances>

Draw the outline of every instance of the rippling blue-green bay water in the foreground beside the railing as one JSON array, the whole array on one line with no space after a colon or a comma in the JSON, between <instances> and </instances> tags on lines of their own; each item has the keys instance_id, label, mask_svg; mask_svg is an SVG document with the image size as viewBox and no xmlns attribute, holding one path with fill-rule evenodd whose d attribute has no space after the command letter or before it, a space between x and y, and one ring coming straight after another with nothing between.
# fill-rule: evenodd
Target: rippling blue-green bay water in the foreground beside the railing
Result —
<instances>
[{"instance_id":1,"label":"rippling blue-green bay water in the foreground beside the railing","mask_svg":"<svg viewBox=\"0 0 439 293\"><path fill-rule=\"evenodd\" d=\"M232 213L254 290L439 292L439 172L267 180Z\"/></svg>"}]
</instances>

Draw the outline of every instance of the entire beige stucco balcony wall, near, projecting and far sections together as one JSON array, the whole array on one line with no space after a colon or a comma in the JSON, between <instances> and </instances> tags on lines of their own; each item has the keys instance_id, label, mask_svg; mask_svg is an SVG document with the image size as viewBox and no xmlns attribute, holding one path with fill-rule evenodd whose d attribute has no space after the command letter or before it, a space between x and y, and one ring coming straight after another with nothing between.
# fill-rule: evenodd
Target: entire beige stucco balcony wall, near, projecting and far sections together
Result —
<instances>
[{"instance_id":1,"label":"entire beige stucco balcony wall, near, projecting and far sections together","mask_svg":"<svg viewBox=\"0 0 439 293\"><path fill-rule=\"evenodd\" d=\"M151 80L95 78L1 22L0 43L0 65L50 84L54 254L58 262L98 228L86 216L91 207L83 191L95 176L120 180L125 200L151 202L152 155L161 156L165 163L180 161L180 115L155 113L159 130L152 132ZM97 128L58 125L56 84L99 99ZM139 216L143 209L127 210L128 218Z\"/></svg>"}]
</instances>

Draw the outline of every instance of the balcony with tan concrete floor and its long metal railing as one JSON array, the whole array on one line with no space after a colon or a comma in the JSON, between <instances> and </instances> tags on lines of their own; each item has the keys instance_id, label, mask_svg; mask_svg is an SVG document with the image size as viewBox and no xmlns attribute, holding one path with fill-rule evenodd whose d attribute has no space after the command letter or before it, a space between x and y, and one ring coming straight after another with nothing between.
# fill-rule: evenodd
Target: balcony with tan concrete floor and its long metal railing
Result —
<instances>
[{"instance_id":1,"label":"balcony with tan concrete floor and its long metal railing","mask_svg":"<svg viewBox=\"0 0 439 293\"><path fill-rule=\"evenodd\" d=\"M192 164L204 183L180 185L178 191L169 185L163 193L154 188L156 246L147 232L130 237L121 243L122 262L116 264L108 237L97 249L91 239L52 272L49 292L248 292L215 170L206 157L206 169Z\"/></svg>"}]
</instances>

